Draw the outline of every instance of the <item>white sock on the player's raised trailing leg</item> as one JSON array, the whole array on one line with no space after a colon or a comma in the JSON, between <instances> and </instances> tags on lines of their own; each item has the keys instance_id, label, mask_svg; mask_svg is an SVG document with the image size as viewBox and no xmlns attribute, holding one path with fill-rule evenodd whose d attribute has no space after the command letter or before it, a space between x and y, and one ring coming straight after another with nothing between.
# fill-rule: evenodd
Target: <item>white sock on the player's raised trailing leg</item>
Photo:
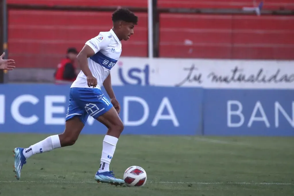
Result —
<instances>
[{"instance_id":1,"label":"white sock on the player's raised trailing leg","mask_svg":"<svg viewBox=\"0 0 294 196\"><path fill-rule=\"evenodd\" d=\"M32 155L45 153L55 148L60 148L60 140L58 135L51 135L45 140L42 140L29 148L25 148L23 151L24 157L27 159Z\"/></svg>"}]
</instances>

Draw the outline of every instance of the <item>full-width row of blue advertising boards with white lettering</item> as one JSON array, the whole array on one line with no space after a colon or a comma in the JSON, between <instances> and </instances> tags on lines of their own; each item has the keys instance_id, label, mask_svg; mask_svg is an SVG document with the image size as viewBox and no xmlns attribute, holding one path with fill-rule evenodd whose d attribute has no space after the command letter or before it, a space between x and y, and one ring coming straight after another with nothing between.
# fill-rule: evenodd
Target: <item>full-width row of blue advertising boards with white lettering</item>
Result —
<instances>
[{"instance_id":1,"label":"full-width row of blue advertising boards with white lettering","mask_svg":"<svg viewBox=\"0 0 294 196\"><path fill-rule=\"evenodd\" d=\"M0 85L0 132L62 133L69 88ZM113 90L122 108L123 134L294 136L293 90L139 85ZM82 134L106 131L90 116Z\"/></svg>"}]
</instances>

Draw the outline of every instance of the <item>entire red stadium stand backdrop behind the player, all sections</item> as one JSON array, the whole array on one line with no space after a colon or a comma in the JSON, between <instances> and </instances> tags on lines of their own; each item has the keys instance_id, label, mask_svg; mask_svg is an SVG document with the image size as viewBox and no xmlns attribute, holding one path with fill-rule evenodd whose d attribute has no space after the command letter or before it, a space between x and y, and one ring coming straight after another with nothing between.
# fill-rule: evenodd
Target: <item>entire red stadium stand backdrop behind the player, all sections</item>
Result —
<instances>
[{"instance_id":1,"label":"entire red stadium stand backdrop behind the player, all sections","mask_svg":"<svg viewBox=\"0 0 294 196\"><path fill-rule=\"evenodd\" d=\"M158 0L159 7L241 8L248 0ZM10 4L136 6L147 0L8 0ZM265 9L294 9L293 0L267 0ZM55 68L68 47L80 50L112 28L111 12L9 10L9 58L19 67ZM122 41L122 56L148 56L147 13ZM294 59L294 16L160 14L160 57Z\"/></svg>"}]
</instances>

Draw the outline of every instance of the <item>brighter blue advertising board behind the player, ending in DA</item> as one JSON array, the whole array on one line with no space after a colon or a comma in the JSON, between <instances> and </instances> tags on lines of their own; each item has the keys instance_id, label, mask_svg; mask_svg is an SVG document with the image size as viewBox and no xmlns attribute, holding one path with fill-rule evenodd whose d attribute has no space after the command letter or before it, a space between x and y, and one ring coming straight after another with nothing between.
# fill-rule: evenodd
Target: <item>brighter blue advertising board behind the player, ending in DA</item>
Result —
<instances>
[{"instance_id":1,"label":"brighter blue advertising board behind the player, ending in DA","mask_svg":"<svg viewBox=\"0 0 294 196\"><path fill-rule=\"evenodd\" d=\"M0 132L62 133L69 88L54 84L0 85ZM202 88L127 85L114 86L113 90L122 107L123 134L201 132ZM105 134L106 131L104 125L90 116L82 133Z\"/></svg>"}]
</instances>

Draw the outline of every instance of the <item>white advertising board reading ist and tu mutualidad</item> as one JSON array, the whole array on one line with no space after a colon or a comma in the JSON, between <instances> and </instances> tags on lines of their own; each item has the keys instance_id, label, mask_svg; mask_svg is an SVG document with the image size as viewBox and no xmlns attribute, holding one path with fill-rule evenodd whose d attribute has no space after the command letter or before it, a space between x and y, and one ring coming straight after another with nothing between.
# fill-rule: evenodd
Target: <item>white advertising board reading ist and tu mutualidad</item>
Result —
<instances>
[{"instance_id":1,"label":"white advertising board reading ist and tu mutualidad","mask_svg":"<svg viewBox=\"0 0 294 196\"><path fill-rule=\"evenodd\" d=\"M294 61L120 58L112 84L204 88L294 88Z\"/></svg>"}]
</instances>

